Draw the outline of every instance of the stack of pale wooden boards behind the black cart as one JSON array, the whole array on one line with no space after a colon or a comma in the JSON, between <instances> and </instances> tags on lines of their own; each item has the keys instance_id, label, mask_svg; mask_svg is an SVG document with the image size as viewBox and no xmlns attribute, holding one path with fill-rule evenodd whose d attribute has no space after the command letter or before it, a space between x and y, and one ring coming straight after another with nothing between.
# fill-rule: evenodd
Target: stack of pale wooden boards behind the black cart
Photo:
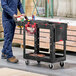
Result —
<instances>
[{"instance_id":1,"label":"stack of pale wooden boards behind the black cart","mask_svg":"<svg viewBox=\"0 0 76 76\"><path fill-rule=\"evenodd\" d=\"M17 30L19 29L18 27L16 27L16 31L15 31L15 36L14 36L14 40L13 43L19 43L21 45L23 45L23 35L20 35L20 31ZM69 51L73 51L76 52L76 26L68 26L68 31L67 31L67 41L66 41L66 50ZM41 29L42 32L46 32L46 33L40 33L41 36L44 36L44 38L40 39L40 47L41 48L49 48L49 30L44 30ZM18 33L18 34L17 34ZM34 38L33 36L28 36L26 35L26 45L29 46L34 46ZM47 36L47 37L46 37ZM17 38L17 39L16 39ZM45 42L45 43L43 43ZM57 49L63 49L62 46L62 41L56 43L56 48Z\"/></svg>"}]
</instances>

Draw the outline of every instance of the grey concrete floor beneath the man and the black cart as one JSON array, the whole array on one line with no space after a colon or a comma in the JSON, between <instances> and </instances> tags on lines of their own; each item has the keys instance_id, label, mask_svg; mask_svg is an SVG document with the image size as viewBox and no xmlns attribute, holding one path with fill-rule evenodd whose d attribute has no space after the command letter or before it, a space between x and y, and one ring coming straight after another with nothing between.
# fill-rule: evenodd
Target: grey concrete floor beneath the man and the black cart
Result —
<instances>
[{"instance_id":1,"label":"grey concrete floor beneath the man and the black cart","mask_svg":"<svg viewBox=\"0 0 76 76\"><path fill-rule=\"evenodd\" d=\"M0 50L3 43L0 42ZM34 73L44 74L48 76L76 76L76 56L67 55L64 68L61 68L59 63L54 64L54 69L49 69L49 63L41 62L40 66L36 61L30 61L30 65L25 65L23 59L23 51L21 48L13 47L14 55L19 59L18 64L8 63L5 59L0 58L0 67L9 67L14 69L26 70ZM1 51L0 51L1 56Z\"/></svg>"}]
</instances>

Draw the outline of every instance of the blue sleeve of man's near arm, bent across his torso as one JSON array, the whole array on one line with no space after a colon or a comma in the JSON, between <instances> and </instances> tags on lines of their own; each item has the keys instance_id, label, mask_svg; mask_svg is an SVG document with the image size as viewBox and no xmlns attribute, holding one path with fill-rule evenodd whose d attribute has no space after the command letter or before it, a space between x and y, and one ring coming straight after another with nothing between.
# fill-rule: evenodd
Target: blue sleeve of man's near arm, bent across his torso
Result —
<instances>
[{"instance_id":1,"label":"blue sleeve of man's near arm, bent across his torso","mask_svg":"<svg viewBox=\"0 0 76 76\"><path fill-rule=\"evenodd\" d=\"M7 12L11 17L15 14L7 5L7 0L1 0L1 6L5 12Z\"/></svg>"}]
</instances>

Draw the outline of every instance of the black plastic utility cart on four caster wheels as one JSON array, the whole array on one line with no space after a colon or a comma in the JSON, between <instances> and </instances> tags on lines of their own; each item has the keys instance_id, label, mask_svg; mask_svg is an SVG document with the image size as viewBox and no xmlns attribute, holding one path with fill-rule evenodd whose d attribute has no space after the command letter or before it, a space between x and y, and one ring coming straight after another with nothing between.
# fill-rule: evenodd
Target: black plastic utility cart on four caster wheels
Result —
<instances>
[{"instance_id":1,"label":"black plastic utility cart on four caster wheels","mask_svg":"<svg viewBox=\"0 0 76 76\"><path fill-rule=\"evenodd\" d=\"M40 64L40 62L49 62L49 67L53 68L53 63L60 62L60 66L64 66L64 61L66 60L66 40L67 40L67 24L66 23L57 23L49 21L35 20L30 21L30 24L36 23L36 30L34 32L34 51L27 52L26 50L26 30L25 24L27 21L23 22L23 57L26 59L26 65L29 65L30 60L35 60ZM50 52L44 53L41 52L39 48L39 39L40 39L40 29L49 29L50 30ZM63 41L63 52L56 53L55 43Z\"/></svg>"}]
</instances>

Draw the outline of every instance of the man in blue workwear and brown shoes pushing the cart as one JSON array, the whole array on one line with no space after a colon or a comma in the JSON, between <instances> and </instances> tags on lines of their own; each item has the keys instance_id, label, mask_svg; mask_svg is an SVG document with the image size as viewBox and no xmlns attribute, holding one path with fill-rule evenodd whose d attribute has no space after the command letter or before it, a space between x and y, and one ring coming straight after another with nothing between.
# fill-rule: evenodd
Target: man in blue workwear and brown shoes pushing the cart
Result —
<instances>
[{"instance_id":1,"label":"man in blue workwear and brown shoes pushing the cart","mask_svg":"<svg viewBox=\"0 0 76 76\"><path fill-rule=\"evenodd\" d=\"M20 0L1 0L2 24L4 28L4 45L2 49L2 59L7 59L8 62L18 63L18 59L12 53L12 40L15 32L16 24L13 17L17 17L17 8L23 16L24 10Z\"/></svg>"}]
</instances>

